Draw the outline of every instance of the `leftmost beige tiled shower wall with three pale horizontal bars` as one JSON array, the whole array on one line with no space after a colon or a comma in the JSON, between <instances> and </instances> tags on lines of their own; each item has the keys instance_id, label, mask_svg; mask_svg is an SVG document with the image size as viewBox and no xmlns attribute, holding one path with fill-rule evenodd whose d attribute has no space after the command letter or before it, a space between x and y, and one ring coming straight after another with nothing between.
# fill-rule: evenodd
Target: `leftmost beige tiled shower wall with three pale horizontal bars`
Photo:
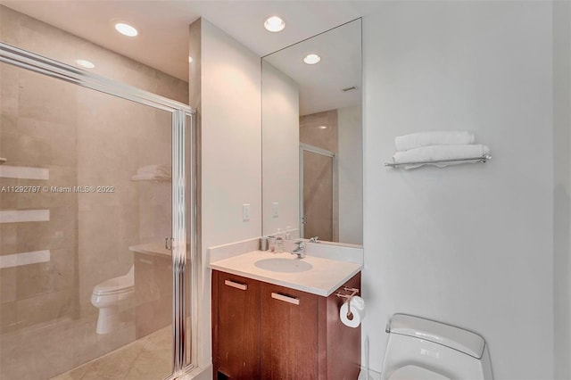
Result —
<instances>
[{"instance_id":1,"label":"leftmost beige tiled shower wall with three pale horizontal bars","mask_svg":"<svg viewBox=\"0 0 571 380\"><path fill-rule=\"evenodd\" d=\"M47 93L46 86L50 87ZM4 333L73 315L78 195L16 194L4 186L75 186L78 153L76 110L68 107L75 101L75 88L55 79L48 83L46 78L4 63L0 65L0 87L0 157L8 159L0 169L41 168L49 175L47 180L0 178L0 210L4 213L48 212L43 221L9 222L4 218L0 223L3 258L27 252L49 254L46 262L0 269L0 331Z\"/></svg>"}]
</instances>

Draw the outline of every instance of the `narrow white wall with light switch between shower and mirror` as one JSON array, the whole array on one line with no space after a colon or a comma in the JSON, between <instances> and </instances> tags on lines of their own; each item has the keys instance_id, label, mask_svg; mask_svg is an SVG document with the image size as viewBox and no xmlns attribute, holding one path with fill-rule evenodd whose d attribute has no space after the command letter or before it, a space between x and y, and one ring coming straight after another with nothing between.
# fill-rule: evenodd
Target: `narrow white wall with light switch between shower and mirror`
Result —
<instances>
[{"instance_id":1,"label":"narrow white wall with light switch between shower and mirror","mask_svg":"<svg viewBox=\"0 0 571 380\"><path fill-rule=\"evenodd\" d=\"M261 233L260 57L201 22L202 253L199 366L211 364L211 277L206 249ZM242 205L250 204L243 221Z\"/></svg>"}]
</instances>

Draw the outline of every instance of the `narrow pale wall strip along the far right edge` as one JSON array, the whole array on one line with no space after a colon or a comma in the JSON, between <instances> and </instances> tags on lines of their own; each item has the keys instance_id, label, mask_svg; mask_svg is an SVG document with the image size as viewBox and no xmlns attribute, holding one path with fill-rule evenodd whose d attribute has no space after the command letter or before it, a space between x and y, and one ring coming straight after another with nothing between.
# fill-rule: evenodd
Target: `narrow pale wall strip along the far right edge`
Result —
<instances>
[{"instance_id":1,"label":"narrow pale wall strip along the far right edge","mask_svg":"<svg viewBox=\"0 0 571 380\"><path fill-rule=\"evenodd\" d=\"M553 3L555 378L571 378L571 3Z\"/></svg>"}]
</instances>

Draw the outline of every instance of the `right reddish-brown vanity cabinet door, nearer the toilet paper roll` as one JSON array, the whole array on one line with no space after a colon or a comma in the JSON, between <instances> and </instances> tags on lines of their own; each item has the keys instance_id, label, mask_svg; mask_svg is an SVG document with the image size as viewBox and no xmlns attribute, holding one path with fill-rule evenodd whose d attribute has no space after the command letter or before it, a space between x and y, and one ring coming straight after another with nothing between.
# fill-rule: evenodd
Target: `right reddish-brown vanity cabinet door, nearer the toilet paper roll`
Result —
<instances>
[{"instance_id":1,"label":"right reddish-brown vanity cabinet door, nearer the toilet paper roll","mask_svg":"<svg viewBox=\"0 0 571 380\"><path fill-rule=\"evenodd\" d=\"M318 378L318 298L261 283L261 378Z\"/></svg>"}]
</instances>

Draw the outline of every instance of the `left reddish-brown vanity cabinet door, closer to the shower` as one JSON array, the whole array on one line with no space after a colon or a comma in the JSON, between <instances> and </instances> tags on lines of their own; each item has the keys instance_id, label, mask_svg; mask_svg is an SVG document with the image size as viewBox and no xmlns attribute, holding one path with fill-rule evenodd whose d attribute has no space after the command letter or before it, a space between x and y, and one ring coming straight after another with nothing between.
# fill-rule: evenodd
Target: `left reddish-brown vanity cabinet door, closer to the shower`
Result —
<instances>
[{"instance_id":1,"label":"left reddish-brown vanity cabinet door, closer to the shower","mask_svg":"<svg viewBox=\"0 0 571 380\"><path fill-rule=\"evenodd\" d=\"M260 282L212 272L214 378L260 379Z\"/></svg>"}]
</instances>

